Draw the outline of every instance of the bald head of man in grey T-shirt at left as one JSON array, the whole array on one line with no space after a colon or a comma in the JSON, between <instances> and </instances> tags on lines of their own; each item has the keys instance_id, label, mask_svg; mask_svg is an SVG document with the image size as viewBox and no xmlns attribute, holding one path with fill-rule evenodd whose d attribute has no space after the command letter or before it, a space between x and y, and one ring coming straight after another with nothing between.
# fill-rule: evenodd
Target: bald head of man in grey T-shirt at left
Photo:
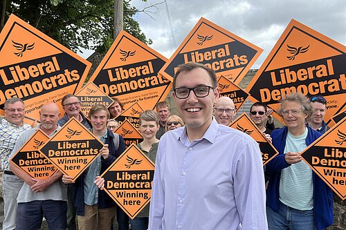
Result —
<instances>
[{"instance_id":1,"label":"bald head of man in grey T-shirt at left","mask_svg":"<svg viewBox=\"0 0 346 230\"><path fill-rule=\"evenodd\" d=\"M50 134L57 128L57 121L59 120L60 111L59 107L53 102L44 104L39 111L39 119L41 121L41 129L47 134Z\"/></svg>"}]
</instances>

